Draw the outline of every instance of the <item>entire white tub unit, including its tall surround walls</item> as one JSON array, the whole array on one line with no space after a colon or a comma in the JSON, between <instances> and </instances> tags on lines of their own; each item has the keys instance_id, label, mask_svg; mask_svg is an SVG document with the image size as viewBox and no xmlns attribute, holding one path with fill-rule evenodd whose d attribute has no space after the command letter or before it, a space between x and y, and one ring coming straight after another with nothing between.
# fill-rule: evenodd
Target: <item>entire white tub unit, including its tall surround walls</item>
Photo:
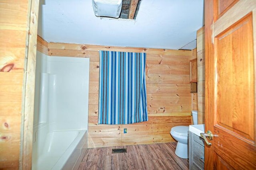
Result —
<instances>
[{"instance_id":1,"label":"entire white tub unit, including its tall surround walls","mask_svg":"<svg viewBox=\"0 0 256 170\"><path fill-rule=\"evenodd\" d=\"M32 170L75 170L87 148L89 59L36 61Z\"/></svg>"}]
</instances>

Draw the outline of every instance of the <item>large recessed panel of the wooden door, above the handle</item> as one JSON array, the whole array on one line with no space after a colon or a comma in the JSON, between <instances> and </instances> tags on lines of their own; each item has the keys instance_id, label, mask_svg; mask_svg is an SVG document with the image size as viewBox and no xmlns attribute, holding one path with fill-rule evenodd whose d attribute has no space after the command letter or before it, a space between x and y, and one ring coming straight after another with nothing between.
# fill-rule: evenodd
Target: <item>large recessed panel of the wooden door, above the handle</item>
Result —
<instances>
[{"instance_id":1,"label":"large recessed panel of the wooden door, above the handle","mask_svg":"<svg viewBox=\"0 0 256 170\"><path fill-rule=\"evenodd\" d=\"M215 41L216 123L254 142L252 15L224 30Z\"/></svg>"}]
</instances>

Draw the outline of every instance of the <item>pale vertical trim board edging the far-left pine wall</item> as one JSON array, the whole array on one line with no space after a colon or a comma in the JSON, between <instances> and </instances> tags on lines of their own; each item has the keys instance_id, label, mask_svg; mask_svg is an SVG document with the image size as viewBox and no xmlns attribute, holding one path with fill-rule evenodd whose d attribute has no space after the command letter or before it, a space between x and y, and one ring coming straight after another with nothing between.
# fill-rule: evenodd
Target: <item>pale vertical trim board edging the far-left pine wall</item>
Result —
<instances>
[{"instance_id":1,"label":"pale vertical trim board edging the far-left pine wall","mask_svg":"<svg viewBox=\"0 0 256 170\"><path fill-rule=\"evenodd\" d=\"M26 37L26 54L24 62L23 96L22 96L22 129L20 149L20 169L32 168L34 93L36 77L36 47L39 0L29 0L28 4L29 34ZM21 162L22 160L22 162Z\"/></svg>"}]
</instances>

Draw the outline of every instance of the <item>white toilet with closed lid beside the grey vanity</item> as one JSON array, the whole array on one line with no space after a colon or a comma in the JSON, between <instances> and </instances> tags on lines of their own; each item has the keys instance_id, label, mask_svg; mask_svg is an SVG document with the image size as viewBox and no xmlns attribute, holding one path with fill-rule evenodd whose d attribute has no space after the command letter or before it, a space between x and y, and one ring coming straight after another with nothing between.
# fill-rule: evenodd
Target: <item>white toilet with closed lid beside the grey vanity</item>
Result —
<instances>
[{"instance_id":1,"label":"white toilet with closed lid beside the grey vanity","mask_svg":"<svg viewBox=\"0 0 256 170\"><path fill-rule=\"evenodd\" d=\"M193 124L197 125L197 111L192 111ZM188 126L175 126L170 134L178 141L175 154L180 158L188 158Z\"/></svg>"}]
</instances>

